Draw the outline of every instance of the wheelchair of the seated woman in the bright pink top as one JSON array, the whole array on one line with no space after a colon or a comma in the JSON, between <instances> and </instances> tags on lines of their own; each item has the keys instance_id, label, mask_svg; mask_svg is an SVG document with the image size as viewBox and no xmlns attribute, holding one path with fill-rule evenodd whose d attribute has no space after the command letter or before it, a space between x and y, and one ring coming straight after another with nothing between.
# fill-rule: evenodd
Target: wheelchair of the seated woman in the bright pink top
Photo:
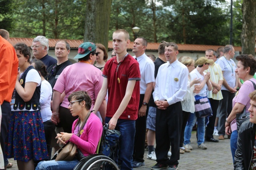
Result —
<instances>
[{"instance_id":1,"label":"wheelchair of the seated woman in the bright pink top","mask_svg":"<svg viewBox=\"0 0 256 170\"><path fill-rule=\"evenodd\" d=\"M88 155L82 158L75 166L74 170L119 170L116 163L102 154L103 139L105 139L108 125L103 126L102 137L98 143L96 154Z\"/></svg>"}]
</instances>

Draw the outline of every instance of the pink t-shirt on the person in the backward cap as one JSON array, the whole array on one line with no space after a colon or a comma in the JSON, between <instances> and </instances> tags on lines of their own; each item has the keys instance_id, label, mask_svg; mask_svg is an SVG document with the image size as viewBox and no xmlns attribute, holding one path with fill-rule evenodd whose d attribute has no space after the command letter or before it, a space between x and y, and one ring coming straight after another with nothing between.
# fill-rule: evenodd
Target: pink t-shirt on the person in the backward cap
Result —
<instances>
[{"instance_id":1,"label":"pink t-shirt on the person in the backward cap","mask_svg":"<svg viewBox=\"0 0 256 170\"><path fill-rule=\"evenodd\" d=\"M66 96L60 106L68 108L68 96L72 92L85 90L90 94L92 107L102 87L102 71L88 63L74 63L67 66L58 77L53 90L60 93L65 91Z\"/></svg>"}]
</instances>

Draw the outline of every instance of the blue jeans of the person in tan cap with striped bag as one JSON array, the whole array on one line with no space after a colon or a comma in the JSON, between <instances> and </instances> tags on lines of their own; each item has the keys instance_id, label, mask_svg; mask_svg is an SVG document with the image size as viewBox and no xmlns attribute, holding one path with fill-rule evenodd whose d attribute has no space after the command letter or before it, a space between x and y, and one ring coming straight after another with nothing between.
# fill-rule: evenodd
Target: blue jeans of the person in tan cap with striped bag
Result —
<instances>
[{"instance_id":1,"label":"blue jeans of the person in tan cap with striped bag","mask_svg":"<svg viewBox=\"0 0 256 170\"><path fill-rule=\"evenodd\" d=\"M197 121L197 144L201 145L204 143L204 131L205 131L205 117L196 117L195 113L190 113L188 118L188 123L185 127L184 132L184 145L190 143L191 133L194 125Z\"/></svg>"}]
</instances>

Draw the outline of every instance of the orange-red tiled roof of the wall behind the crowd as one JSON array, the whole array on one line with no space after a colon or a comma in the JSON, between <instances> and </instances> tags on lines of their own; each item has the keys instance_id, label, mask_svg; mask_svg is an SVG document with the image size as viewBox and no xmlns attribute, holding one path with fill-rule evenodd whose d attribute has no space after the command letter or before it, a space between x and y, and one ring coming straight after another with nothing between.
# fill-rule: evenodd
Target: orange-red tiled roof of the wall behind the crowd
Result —
<instances>
[{"instance_id":1,"label":"orange-red tiled roof of the wall behind the crowd","mask_svg":"<svg viewBox=\"0 0 256 170\"><path fill-rule=\"evenodd\" d=\"M54 48L57 41L60 39L49 39L49 47ZM77 49L83 40L80 39L66 39L66 41L70 44L70 48ZM10 38L10 43L12 45L16 43L23 42L28 46L32 45L33 39L32 38ZM147 50L150 51L157 51L158 46L160 43L148 43ZM127 49L132 49L133 42L130 42ZM195 44L177 44L179 51L190 51L190 52L199 52L199 51L206 51L207 49L213 49L217 51L218 47L223 47L219 45L195 45ZM108 41L108 49L113 49L112 41ZM242 47L234 47L235 51L242 51Z\"/></svg>"}]
</instances>

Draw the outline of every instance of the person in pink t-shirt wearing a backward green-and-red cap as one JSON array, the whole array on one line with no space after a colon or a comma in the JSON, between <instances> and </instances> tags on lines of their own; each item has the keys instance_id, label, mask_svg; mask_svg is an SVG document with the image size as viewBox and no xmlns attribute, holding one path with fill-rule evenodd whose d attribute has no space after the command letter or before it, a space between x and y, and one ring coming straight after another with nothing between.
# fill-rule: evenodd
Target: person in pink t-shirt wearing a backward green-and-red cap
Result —
<instances>
[{"instance_id":1,"label":"person in pink t-shirt wearing a backward green-and-red cap","mask_svg":"<svg viewBox=\"0 0 256 170\"><path fill-rule=\"evenodd\" d=\"M64 132L71 133L72 123L78 118L73 117L68 109L68 96L72 92L86 90L92 99L92 108L94 107L98 93L103 83L102 71L93 66L96 60L96 45L90 42L84 42L78 47L78 63L67 66L53 88L53 113L52 122L56 125L61 123ZM65 92L66 96L60 105L60 95ZM60 105L60 106L59 106ZM106 100L100 107L100 118L105 122Z\"/></svg>"}]
</instances>

